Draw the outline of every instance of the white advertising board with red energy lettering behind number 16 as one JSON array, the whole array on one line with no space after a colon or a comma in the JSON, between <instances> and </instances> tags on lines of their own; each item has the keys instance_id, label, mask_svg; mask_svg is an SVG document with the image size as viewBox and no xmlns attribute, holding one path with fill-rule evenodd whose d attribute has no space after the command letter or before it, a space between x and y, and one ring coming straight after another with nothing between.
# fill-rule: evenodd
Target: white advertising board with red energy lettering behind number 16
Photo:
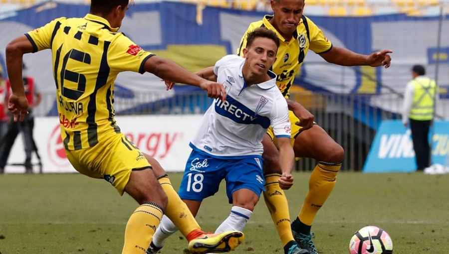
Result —
<instances>
[{"instance_id":1,"label":"white advertising board with red energy lettering behind number 16","mask_svg":"<svg viewBox=\"0 0 449 254\"><path fill-rule=\"evenodd\" d=\"M117 124L142 150L156 158L166 171L184 171L202 115L171 116L118 116ZM76 172L65 156L56 117L38 117L34 124L34 140L40 155L43 173ZM8 158L6 173L23 173L25 154L21 135L17 136ZM34 172L39 160L33 153Z\"/></svg>"}]
</instances>

